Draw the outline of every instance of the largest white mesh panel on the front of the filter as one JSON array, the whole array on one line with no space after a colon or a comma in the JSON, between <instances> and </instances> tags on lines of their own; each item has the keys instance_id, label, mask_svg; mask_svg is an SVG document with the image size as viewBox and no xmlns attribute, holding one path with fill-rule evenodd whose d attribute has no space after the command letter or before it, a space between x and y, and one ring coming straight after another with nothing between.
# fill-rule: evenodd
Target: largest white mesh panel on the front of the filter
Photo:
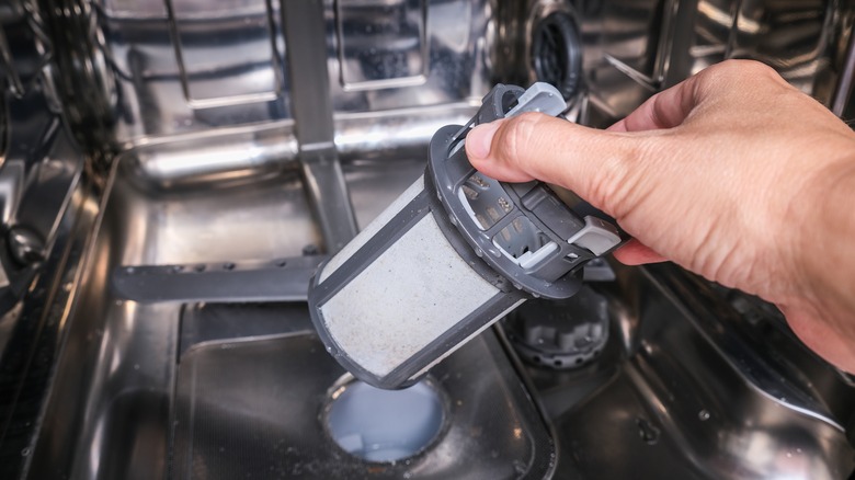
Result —
<instances>
[{"instance_id":1,"label":"largest white mesh panel on the front of the filter","mask_svg":"<svg viewBox=\"0 0 855 480\"><path fill-rule=\"evenodd\" d=\"M428 215L321 306L321 313L343 352L385 376L497 293ZM366 319L369 330L363 328Z\"/></svg>"}]
</instances>

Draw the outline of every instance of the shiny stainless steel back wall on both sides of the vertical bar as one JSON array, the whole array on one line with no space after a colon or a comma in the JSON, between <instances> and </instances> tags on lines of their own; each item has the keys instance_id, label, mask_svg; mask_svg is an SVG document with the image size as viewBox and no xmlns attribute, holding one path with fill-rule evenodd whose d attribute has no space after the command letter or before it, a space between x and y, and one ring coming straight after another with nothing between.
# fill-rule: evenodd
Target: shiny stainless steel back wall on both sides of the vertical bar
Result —
<instances>
[{"instance_id":1,"label":"shiny stainless steel back wall on both sides of the vertical bar","mask_svg":"<svg viewBox=\"0 0 855 480\"><path fill-rule=\"evenodd\" d=\"M467 119L493 82L533 81L533 26L555 10L577 16L590 93L590 115L581 119L596 126L727 58L767 62L823 103L841 103L850 90L841 72L854 3L326 0L335 145L345 158L411 152L436 127ZM250 128L254 142L263 130L262 146L253 149L258 157L214 162L215 171L296 155L293 147L266 147L294 140L289 48L278 1L33 4L62 45L55 77L68 116L91 149L140 148L135 160L158 181L180 175L164 165L183 161L174 152L198 149L205 140L194 136L210 132L240 137ZM163 144L170 145L149 147ZM149 160L153 167L146 170Z\"/></svg>"}]
</instances>

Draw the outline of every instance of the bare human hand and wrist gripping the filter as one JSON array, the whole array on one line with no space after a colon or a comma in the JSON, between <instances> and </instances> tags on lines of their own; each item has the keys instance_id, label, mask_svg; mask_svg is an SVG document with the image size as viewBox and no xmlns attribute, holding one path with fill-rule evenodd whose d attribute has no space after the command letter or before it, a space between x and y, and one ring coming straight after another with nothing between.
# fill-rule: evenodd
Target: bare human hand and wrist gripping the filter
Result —
<instances>
[{"instance_id":1,"label":"bare human hand and wrist gripping the filter","mask_svg":"<svg viewBox=\"0 0 855 480\"><path fill-rule=\"evenodd\" d=\"M472 165L565 186L634 240L775 304L820 356L855 373L855 134L773 69L715 65L606 130L543 114L480 125Z\"/></svg>"}]
</instances>

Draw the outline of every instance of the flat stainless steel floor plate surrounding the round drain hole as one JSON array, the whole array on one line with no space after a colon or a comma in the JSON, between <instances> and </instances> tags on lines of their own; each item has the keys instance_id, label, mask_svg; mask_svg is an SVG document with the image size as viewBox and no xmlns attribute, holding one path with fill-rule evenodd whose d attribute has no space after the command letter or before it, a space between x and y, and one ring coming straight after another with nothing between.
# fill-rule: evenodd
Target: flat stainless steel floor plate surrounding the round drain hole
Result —
<instances>
[{"instance_id":1,"label":"flat stainless steel floor plate surrounding the round drain hole","mask_svg":"<svg viewBox=\"0 0 855 480\"><path fill-rule=\"evenodd\" d=\"M543 419L491 333L435 369L432 382L447 402L444 425L429 448L406 460L369 462L334 443L322 412L328 396L341 393L344 373L311 331L191 347L176 374L173 478L542 479L551 472L554 445ZM377 413L384 421L396 412Z\"/></svg>"}]
</instances>

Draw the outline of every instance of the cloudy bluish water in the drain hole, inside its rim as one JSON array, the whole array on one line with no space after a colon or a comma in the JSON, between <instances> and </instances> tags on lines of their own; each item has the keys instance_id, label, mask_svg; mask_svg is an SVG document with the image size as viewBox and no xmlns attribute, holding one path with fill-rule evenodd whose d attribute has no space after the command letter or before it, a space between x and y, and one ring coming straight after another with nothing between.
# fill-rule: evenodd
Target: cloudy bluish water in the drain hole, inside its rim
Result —
<instances>
[{"instance_id":1,"label":"cloudy bluish water in the drain hole, inside its rim","mask_svg":"<svg viewBox=\"0 0 855 480\"><path fill-rule=\"evenodd\" d=\"M396 461L433 443L445 423L445 408L429 381L383 390L354 380L333 391L323 420L345 452L368 461Z\"/></svg>"}]
</instances>

